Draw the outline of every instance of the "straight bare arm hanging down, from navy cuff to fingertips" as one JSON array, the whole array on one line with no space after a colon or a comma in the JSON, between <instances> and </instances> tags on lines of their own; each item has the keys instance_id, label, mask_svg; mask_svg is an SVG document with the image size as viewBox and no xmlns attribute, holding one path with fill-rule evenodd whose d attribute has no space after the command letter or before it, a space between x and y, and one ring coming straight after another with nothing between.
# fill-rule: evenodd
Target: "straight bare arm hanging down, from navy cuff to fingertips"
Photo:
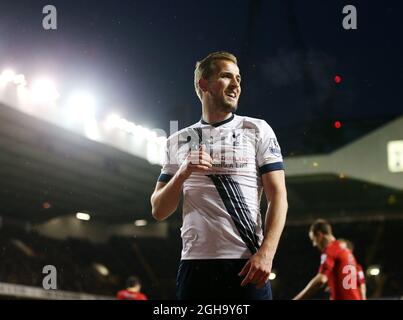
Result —
<instances>
[{"instance_id":1,"label":"straight bare arm hanging down, from navy cuff to fingertips","mask_svg":"<svg viewBox=\"0 0 403 320\"><path fill-rule=\"evenodd\" d=\"M284 229L288 202L283 170L262 175L268 208L262 245L246 263L239 275L246 275L241 285L254 283L258 288L269 280L273 259Z\"/></svg>"}]
</instances>

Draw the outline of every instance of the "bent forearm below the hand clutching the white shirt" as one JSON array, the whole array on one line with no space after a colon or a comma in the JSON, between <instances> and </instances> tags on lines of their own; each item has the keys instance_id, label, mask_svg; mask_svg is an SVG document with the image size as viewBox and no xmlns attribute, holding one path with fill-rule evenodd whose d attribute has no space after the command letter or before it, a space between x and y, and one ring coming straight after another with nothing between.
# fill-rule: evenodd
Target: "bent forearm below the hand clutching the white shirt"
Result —
<instances>
[{"instance_id":1,"label":"bent forearm below the hand clutching the white shirt","mask_svg":"<svg viewBox=\"0 0 403 320\"><path fill-rule=\"evenodd\" d=\"M161 189L154 191L151 196L152 215L162 221L168 218L178 208L186 177L177 172Z\"/></svg>"}]
</instances>

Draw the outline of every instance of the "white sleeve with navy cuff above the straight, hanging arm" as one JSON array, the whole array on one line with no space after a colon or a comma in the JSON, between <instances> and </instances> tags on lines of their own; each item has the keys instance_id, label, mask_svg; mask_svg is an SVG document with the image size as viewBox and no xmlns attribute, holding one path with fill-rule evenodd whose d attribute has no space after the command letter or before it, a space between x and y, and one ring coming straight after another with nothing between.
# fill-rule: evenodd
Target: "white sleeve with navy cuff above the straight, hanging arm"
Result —
<instances>
[{"instance_id":1,"label":"white sleeve with navy cuff above the straight, hanging arm","mask_svg":"<svg viewBox=\"0 0 403 320\"><path fill-rule=\"evenodd\" d=\"M284 170L280 145L273 129L266 121L263 121L259 127L257 165L260 175L270 171Z\"/></svg>"}]
</instances>

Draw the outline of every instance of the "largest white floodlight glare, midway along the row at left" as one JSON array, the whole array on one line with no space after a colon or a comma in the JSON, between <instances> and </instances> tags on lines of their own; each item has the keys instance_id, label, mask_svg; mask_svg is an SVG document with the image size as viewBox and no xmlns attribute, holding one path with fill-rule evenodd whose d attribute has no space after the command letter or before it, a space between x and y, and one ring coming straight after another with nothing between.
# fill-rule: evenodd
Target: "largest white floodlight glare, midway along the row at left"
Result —
<instances>
[{"instance_id":1,"label":"largest white floodlight glare, midway along the row at left","mask_svg":"<svg viewBox=\"0 0 403 320\"><path fill-rule=\"evenodd\" d=\"M95 118L95 99L86 92L74 93L67 104L67 118L84 122Z\"/></svg>"}]
</instances>

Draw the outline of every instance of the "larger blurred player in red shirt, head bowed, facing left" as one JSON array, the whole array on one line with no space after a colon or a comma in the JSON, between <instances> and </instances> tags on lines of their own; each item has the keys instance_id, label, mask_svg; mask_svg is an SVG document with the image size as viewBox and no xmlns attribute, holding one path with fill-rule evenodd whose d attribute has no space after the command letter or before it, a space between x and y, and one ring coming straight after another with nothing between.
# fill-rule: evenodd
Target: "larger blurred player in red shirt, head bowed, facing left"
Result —
<instances>
[{"instance_id":1,"label":"larger blurred player in red shirt, head bowed, facing left","mask_svg":"<svg viewBox=\"0 0 403 320\"><path fill-rule=\"evenodd\" d=\"M362 300L357 280L357 261L350 250L333 236L332 227L323 219L310 227L309 238L321 252L319 272L294 300L311 297L325 284L331 300Z\"/></svg>"}]
</instances>

